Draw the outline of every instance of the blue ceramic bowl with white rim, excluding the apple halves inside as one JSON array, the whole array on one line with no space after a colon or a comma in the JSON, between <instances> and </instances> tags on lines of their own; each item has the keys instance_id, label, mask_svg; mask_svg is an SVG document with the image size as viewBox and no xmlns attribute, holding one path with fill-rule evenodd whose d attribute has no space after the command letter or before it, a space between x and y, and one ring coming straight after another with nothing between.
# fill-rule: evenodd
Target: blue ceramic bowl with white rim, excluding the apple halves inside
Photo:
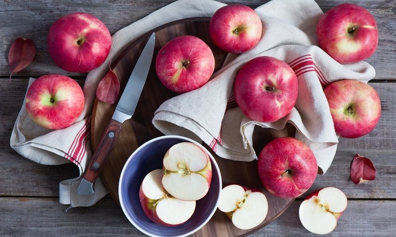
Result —
<instances>
[{"instance_id":1,"label":"blue ceramic bowl with white rim, excluding the apple halves inside","mask_svg":"<svg viewBox=\"0 0 396 237\"><path fill-rule=\"evenodd\" d=\"M166 227L152 222L143 211L139 201L139 189L145 176L152 170L162 168L162 158L173 145L193 142L207 151L196 141L181 136L162 136L140 146L127 160L121 172L118 195L121 208L128 220L141 232L151 237L184 237L202 228L216 211L221 192L221 175L213 156L212 182L205 197L197 200L193 216L176 227Z\"/></svg>"}]
</instances>

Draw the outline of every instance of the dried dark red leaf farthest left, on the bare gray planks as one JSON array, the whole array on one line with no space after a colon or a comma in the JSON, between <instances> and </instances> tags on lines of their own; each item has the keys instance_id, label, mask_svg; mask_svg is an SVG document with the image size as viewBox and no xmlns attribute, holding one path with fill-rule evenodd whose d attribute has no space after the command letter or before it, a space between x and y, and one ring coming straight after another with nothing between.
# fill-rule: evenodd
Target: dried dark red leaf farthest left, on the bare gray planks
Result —
<instances>
[{"instance_id":1,"label":"dried dark red leaf farthest left, on the bare gray planks","mask_svg":"<svg viewBox=\"0 0 396 237\"><path fill-rule=\"evenodd\" d=\"M21 71L33 62L36 47L33 40L17 38L11 44L8 52L8 65L11 74Z\"/></svg>"}]
</instances>

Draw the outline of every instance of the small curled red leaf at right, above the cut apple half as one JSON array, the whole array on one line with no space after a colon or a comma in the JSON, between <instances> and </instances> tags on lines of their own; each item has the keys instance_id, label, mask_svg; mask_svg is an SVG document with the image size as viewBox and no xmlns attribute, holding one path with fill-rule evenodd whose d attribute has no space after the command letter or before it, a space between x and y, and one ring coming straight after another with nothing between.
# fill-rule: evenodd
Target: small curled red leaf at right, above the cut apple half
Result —
<instances>
[{"instance_id":1,"label":"small curled red leaf at right, above the cut apple half","mask_svg":"<svg viewBox=\"0 0 396 237\"><path fill-rule=\"evenodd\" d=\"M375 179L376 170L369 158L356 154L350 165L350 179L354 184L360 184Z\"/></svg>"}]
</instances>

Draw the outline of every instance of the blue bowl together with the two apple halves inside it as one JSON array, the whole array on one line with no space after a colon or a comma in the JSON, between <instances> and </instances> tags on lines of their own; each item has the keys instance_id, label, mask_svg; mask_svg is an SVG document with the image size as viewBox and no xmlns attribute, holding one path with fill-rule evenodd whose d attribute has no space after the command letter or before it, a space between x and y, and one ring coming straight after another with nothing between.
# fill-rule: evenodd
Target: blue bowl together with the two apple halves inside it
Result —
<instances>
[{"instance_id":1,"label":"blue bowl together with the two apple halves inside it","mask_svg":"<svg viewBox=\"0 0 396 237\"><path fill-rule=\"evenodd\" d=\"M161 136L140 146L119 180L121 208L151 237L188 236L213 216L222 188L219 167L198 142Z\"/></svg>"}]
</instances>

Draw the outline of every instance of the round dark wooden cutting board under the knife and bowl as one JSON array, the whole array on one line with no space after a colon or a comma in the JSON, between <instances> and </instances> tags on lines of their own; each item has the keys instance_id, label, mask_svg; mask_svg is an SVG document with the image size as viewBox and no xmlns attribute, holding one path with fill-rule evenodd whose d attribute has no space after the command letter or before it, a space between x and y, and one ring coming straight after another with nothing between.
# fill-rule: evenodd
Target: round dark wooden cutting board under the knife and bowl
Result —
<instances>
[{"instance_id":1,"label":"round dark wooden cutting board under the knife and bowl","mask_svg":"<svg viewBox=\"0 0 396 237\"><path fill-rule=\"evenodd\" d=\"M118 180L126 160L140 145L154 137L163 135L156 128L154 128L151 120L154 116L155 110L161 105L162 102L177 95L166 89L156 76L154 63L158 50L166 42L177 36L193 35L205 41L212 49L216 62L215 71L222 67L227 53L216 47L210 40L208 34L209 19L210 18L184 19L163 25L153 30L153 32L155 32L156 42L154 56L151 62L151 67L145 87L138 102L134 116L123 123L114 149L111 152L110 157L108 158L101 173L101 179L104 185L117 202L119 201ZM150 34L151 32L132 42L117 59L112 60L111 69L113 69L113 72L120 80L121 92L123 91L126 81L129 78L129 75L131 74L132 69L134 68L135 63L142 52ZM92 115L92 146L94 150L99 143L100 137L103 134L104 129L115 110L115 107L116 103L109 105L99 102L98 100L95 101ZM264 146L265 142L269 141L267 136L268 134L261 134L257 132L254 133L255 140L260 140L260 142L254 143L258 144L255 145L257 146L256 151L260 151L259 149ZM213 156L215 157L220 168L223 187L229 184L239 184L261 190L268 199L268 215L264 222L262 222L256 228L250 230L240 230L232 224L232 222L224 213L217 209L211 220L193 236L246 236L256 232L257 230L269 224L271 221L275 220L289 207L289 205L294 200L275 197L269 194L263 188L257 174L256 161L233 161L219 158L214 155L214 153Z\"/></svg>"}]
</instances>

